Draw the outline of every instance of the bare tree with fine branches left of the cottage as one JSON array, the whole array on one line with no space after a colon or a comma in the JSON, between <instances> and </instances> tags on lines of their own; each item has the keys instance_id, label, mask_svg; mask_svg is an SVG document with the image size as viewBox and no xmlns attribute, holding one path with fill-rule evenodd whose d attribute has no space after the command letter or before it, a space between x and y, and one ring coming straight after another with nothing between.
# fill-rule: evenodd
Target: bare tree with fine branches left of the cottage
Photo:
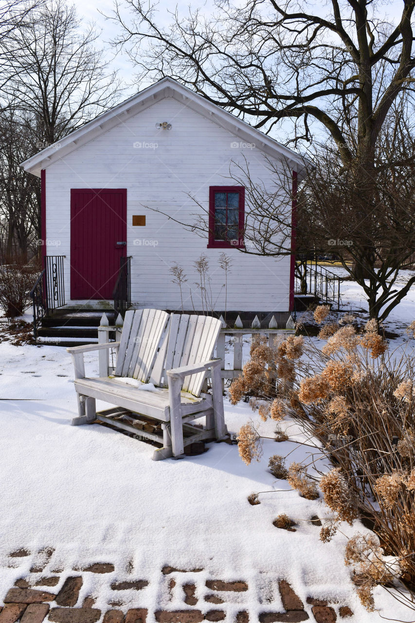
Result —
<instances>
[{"instance_id":1,"label":"bare tree with fine branches left of the cottage","mask_svg":"<svg viewBox=\"0 0 415 623\"><path fill-rule=\"evenodd\" d=\"M31 7L1 42L0 219L4 252L40 238L40 184L19 163L99 113L123 92L97 47L93 25L83 29L64 0ZM7 78L7 79L6 79Z\"/></svg>"}]
</instances>

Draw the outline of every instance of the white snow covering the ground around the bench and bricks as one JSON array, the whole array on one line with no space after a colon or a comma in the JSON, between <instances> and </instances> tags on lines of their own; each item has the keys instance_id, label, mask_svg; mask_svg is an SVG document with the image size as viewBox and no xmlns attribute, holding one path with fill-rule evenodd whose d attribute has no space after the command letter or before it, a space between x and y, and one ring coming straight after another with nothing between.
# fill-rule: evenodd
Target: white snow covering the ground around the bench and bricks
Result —
<instances>
[{"instance_id":1,"label":"white snow covering the ground around the bench and bricks","mask_svg":"<svg viewBox=\"0 0 415 623\"><path fill-rule=\"evenodd\" d=\"M345 307L365 307L353 283L343 284L342 298ZM391 316L390 330L413 320L414 300L415 290ZM64 348L3 342L0 354L0 601L16 579L29 574L34 560L9 554L19 548L36 554L50 546L55 553L44 574L65 569L54 592L70 569L110 562L115 564L110 579L120 580L131 578L127 568L132 561L134 577L149 581L140 591L148 623L154 621L151 613L168 602L160 575L164 565L203 568L186 574L201 597L208 592L208 578L247 581L249 590L237 594L233 610L227 607L229 623L242 609L252 622L259 612L281 611L279 578L287 579L304 603L313 596L350 606L355 613L347 619L351 623L414 619L382 587L374 591L376 612L361 606L343 563L346 535L365 531L360 522L342 526L344 535L322 543L320 529L309 520L313 515L323 520L328 509L300 497L269 472L274 454L292 452L290 460L301 461L313 451L295 443L304 438L293 422L282 424L290 440L265 440L262 460L250 466L242 463L236 445L225 443L210 444L196 457L153 462L150 445L98 425L70 426L77 407L72 363ZM96 353L85 361L87 374L97 374ZM232 407L226 399L225 408L231 433L258 419L247 404ZM274 422L260 427L272 437ZM251 506L251 492L269 493ZM272 525L280 513L298 523L295 533ZM113 597L108 575L89 575L80 602L92 594L94 607L105 611ZM136 598L135 591L123 591L122 608L136 604ZM183 609L183 600L174 599L169 609ZM305 609L313 621L311 606Z\"/></svg>"}]
</instances>

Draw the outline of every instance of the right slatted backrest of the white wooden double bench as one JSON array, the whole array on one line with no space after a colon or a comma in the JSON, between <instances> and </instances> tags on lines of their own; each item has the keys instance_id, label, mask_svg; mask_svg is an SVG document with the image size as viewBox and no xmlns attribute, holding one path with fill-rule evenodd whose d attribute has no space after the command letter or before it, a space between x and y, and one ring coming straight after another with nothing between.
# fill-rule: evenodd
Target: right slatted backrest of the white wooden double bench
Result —
<instances>
[{"instance_id":1,"label":"right slatted backrest of the white wooden double bench","mask_svg":"<svg viewBox=\"0 0 415 623\"><path fill-rule=\"evenodd\" d=\"M157 357L150 381L158 386L168 386L166 370L198 364L211 359L222 322L211 316L172 313L166 334ZM206 374L189 374L184 378L183 389L200 396Z\"/></svg>"}]
</instances>

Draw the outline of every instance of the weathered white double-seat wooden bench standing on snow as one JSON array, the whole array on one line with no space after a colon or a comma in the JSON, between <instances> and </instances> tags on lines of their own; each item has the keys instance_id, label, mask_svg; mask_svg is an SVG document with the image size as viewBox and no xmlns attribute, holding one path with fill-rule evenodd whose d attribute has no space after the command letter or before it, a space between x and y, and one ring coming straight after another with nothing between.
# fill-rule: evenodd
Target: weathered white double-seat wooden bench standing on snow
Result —
<instances>
[{"instance_id":1,"label":"weathered white double-seat wooden bench standing on snow","mask_svg":"<svg viewBox=\"0 0 415 623\"><path fill-rule=\"evenodd\" d=\"M120 341L67 348L79 409L72 424L98 420L156 441L162 447L153 460L180 457L184 445L198 440L221 439L227 434L221 359L211 359L220 330L221 321L210 316L130 310ZM101 349L117 351L114 373L87 378L83 354ZM207 376L212 394L202 392ZM96 399L116 407L96 412ZM203 428L189 424L199 417L206 417Z\"/></svg>"}]
</instances>

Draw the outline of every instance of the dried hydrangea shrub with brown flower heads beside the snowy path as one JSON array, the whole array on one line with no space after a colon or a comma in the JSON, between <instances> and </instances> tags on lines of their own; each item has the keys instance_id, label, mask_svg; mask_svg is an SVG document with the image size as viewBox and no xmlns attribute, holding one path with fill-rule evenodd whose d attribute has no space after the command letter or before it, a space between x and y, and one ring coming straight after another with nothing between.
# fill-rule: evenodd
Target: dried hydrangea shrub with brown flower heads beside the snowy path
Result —
<instances>
[{"instance_id":1,"label":"dried hydrangea shrub with brown flower heads beside the snowy path","mask_svg":"<svg viewBox=\"0 0 415 623\"><path fill-rule=\"evenodd\" d=\"M318 321L326 317L327 309L317 313ZM400 574L415 591L415 366L409 341L396 356L389 353L376 320L363 330L354 321L343 317L336 331L328 331L322 350L302 345L307 358L295 361L295 386L278 399L335 464L321 474L320 488L333 516L320 538L330 541L341 521L353 524L358 516L373 526L373 538L353 537L345 556L360 578L361 601L371 609L373 587L390 582L391 574ZM415 321L408 335L415 337ZM283 345L277 375L281 361L292 363L286 352ZM305 497L317 494L301 464L290 465L287 482ZM398 561L398 570L392 573L383 551Z\"/></svg>"}]
</instances>

